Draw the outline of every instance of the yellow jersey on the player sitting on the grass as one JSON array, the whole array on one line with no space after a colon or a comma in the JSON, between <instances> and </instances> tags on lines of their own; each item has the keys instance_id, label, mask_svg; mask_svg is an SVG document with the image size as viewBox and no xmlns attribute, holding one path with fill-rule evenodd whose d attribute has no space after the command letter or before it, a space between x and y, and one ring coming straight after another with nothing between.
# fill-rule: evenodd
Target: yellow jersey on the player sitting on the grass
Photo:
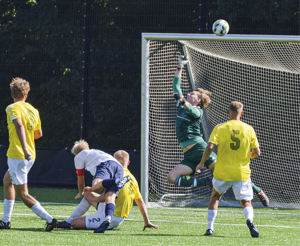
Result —
<instances>
[{"instance_id":1,"label":"yellow jersey on the player sitting on the grass","mask_svg":"<svg viewBox=\"0 0 300 246\"><path fill-rule=\"evenodd\" d=\"M116 210L113 215L117 217L128 218L133 200L140 199L142 197L137 180L127 168L124 168L124 177L128 175L131 177L131 180L129 180L127 184L119 190L119 196L115 200Z\"/></svg>"}]
</instances>

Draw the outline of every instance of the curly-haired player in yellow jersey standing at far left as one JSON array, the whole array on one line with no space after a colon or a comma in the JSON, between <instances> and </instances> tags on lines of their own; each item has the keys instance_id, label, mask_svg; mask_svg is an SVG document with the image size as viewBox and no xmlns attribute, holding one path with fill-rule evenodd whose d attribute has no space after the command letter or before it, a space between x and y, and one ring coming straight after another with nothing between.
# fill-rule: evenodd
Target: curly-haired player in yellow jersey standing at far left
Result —
<instances>
[{"instance_id":1,"label":"curly-haired player in yellow jersey standing at far left","mask_svg":"<svg viewBox=\"0 0 300 246\"><path fill-rule=\"evenodd\" d=\"M0 229L10 229L10 218L16 195L35 214L46 220L44 231L51 231L58 222L28 193L27 175L35 162L35 139L42 137L38 110L26 103L29 82L15 78L10 83L14 103L6 108L9 132L8 170L4 175L4 215Z\"/></svg>"}]
</instances>

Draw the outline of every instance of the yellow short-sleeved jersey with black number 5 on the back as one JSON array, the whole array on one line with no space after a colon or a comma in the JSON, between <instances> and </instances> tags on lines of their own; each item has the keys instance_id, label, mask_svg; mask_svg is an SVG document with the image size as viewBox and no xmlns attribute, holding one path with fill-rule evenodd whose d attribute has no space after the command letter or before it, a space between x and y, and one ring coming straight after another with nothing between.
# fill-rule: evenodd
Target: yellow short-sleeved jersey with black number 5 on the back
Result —
<instances>
[{"instance_id":1,"label":"yellow short-sleeved jersey with black number 5 on the back","mask_svg":"<svg viewBox=\"0 0 300 246\"><path fill-rule=\"evenodd\" d=\"M218 146L214 178L224 181L245 181L250 178L250 149L259 147L254 129L240 120L217 125L209 143Z\"/></svg>"}]
</instances>

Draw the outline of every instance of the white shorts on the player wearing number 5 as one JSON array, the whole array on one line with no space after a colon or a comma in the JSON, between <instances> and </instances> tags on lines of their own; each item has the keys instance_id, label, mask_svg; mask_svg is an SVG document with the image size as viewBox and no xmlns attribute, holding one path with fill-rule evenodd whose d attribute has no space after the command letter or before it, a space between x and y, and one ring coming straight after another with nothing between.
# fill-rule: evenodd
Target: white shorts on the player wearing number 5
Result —
<instances>
[{"instance_id":1,"label":"white shorts on the player wearing number 5","mask_svg":"<svg viewBox=\"0 0 300 246\"><path fill-rule=\"evenodd\" d=\"M250 178L246 181L223 181L213 178L212 185L219 194L225 193L226 190L232 187L235 199L245 201L253 199L253 190Z\"/></svg>"}]
</instances>

